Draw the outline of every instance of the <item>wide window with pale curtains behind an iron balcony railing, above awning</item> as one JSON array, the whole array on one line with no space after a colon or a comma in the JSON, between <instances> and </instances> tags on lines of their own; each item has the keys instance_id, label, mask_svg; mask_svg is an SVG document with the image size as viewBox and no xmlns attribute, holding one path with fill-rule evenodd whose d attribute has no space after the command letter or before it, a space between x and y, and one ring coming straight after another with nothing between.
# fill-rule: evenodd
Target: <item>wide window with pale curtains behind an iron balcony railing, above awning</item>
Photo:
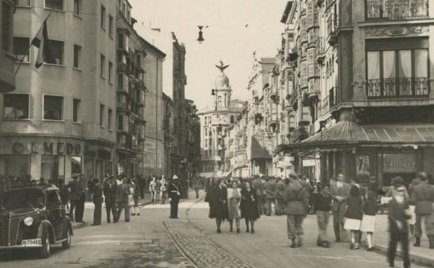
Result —
<instances>
[{"instance_id":1,"label":"wide window with pale curtains behind an iron balcony railing, above awning","mask_svg":"<svg viewBox=\"0 0 434 268\"><path fill-rule=\"evenodd\" d=\"M428 49L367 52L368 97L428 95Z\"/></svg>"}]
</instances>

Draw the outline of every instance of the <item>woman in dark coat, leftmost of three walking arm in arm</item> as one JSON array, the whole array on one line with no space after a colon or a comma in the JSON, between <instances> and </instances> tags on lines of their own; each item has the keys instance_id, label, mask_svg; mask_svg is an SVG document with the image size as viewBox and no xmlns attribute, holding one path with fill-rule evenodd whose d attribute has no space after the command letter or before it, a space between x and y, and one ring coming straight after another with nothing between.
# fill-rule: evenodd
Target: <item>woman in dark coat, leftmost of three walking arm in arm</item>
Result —
<instances>
[{"instance_id":1,"label":"woman in dark coat, leftmost of three walking arm in arm","mask_svg":"<svg viewBox=\"0 0 434 268\"><path fill-rule=\"evenodd\" d=\"M221 233L221 223L227 219L227 189L223 180L213 179L207 191L205 202L209 203L209 218L216 219L217 233Z\"/></svg>"}]
</instances>

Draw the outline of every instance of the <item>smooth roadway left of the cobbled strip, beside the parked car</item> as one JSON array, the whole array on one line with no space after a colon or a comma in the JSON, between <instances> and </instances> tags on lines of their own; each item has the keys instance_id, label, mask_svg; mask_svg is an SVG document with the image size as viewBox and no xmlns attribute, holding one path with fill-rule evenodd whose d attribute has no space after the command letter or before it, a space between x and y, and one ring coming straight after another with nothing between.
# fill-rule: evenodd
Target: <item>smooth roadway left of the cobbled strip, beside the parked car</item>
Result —
<instances>
[{"instance_id":1,"label":"smooth roadway left of the cobbled strip, beside the parked car","mask_svg":"<svg viewBox=\"0 0 434 268\"><path fill-rule=\"evenodd\" d=\"M167 205L151 205L142 208L140 216L132 216L129 223L121 219L120 223L80 228L74 230L70 249L52 249L51 257L44 260L29 251L0 255L0 267L191 268L163 226L168 211Z\"/></svg>"}]
</instances>

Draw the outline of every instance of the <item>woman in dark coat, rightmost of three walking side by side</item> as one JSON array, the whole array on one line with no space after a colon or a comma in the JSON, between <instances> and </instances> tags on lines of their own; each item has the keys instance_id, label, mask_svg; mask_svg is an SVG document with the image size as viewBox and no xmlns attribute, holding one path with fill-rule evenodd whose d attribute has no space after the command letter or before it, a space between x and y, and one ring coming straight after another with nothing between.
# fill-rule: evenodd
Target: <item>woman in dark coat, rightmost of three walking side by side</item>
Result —
<instances>
[{"instance_id":1,"label":"woman in dark coat, rightmost of three walking side by side","mask_svg":"<svg viewBox=\"0 0 434 268\"><path fill-rule=\"evenodd\" d=\"M256 190L252 189L250 182L246 181L245 188L241 190L241 218L246 221L246 232L255 233L255 221L259 219Z\"/></svg>"}]
</instances>

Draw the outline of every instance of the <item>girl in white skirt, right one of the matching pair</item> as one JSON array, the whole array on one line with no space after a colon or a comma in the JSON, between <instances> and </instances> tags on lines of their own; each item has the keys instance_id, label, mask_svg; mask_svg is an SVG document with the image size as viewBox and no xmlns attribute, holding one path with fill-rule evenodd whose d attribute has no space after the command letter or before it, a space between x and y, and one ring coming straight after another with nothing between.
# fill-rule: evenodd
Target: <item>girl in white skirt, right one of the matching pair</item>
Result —
<instances>
[{"instance_id":1,"label":"girl in white skirt, right one of the matching pair","mask_svg":"<svg viewBox=\"0 0 434 268\"><path fill-rule=\"evenodd\" d=\"M367 232L367 251L373 251L373 232L375 232L375 217L378 212L376 192L368 191L368 198L363 202L362 212L363 219L360 230L362 232Z\"/></svg>"}]
</instances>

